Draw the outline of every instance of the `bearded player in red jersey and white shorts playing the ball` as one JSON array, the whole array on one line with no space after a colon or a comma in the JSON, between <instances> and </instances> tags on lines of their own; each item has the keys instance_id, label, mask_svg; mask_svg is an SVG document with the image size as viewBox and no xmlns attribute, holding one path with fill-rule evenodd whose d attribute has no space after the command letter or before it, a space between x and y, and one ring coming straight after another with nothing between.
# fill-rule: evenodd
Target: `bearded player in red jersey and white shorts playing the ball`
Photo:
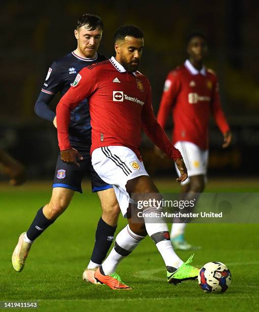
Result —
<instances>
[{"instance_id":1,"label":"bearded player in red jersey and white shorts playing the ball","mask_svg":"<svg viewBox=\"0 0 259 312\"><path fill-rule=\"evenodd\" d=\"M112 289L130 289L115 273L119 262L148 235L154 240L167 269L167 280L179 283L194 279L198 269L177 256L171 246L166 223L132 223L133 211L129 202L148 200L149 193L161 198L149 177L139 153L141 127L151 140L161 148L181 171L179 181L187 178L181 153L171 144L157 122L151 99L151 87L146 76L137 71L143 48L143 33L134 25L124 25L115 35L116 58L88 66L77 75L72 87L62 97L56 108L57 133L61 157L64 162L75 163L80 154L71 148L68 136L70 111L82 98L89 98L92 125L92 164L100 177L113 185L127 225L117 236L114 248L97 269L95 277ZM161 211L149 206L142 212ZM160 217L159 217L160 216Z\"/></svg>"}]
</instances>

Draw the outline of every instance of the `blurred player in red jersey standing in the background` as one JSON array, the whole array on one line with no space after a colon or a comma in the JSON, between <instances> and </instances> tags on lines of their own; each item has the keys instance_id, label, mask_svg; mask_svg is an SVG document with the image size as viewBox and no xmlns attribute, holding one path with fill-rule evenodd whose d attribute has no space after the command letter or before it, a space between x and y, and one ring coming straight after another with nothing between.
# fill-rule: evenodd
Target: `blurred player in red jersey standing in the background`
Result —
<instances>
[{"instance_id":1,"label":"blurred player in red jersey standing in the background","mask_svg":"<svg viewBox=\"0 0 259 312\"><path fill-rule=\"evenodd\" d=\"M204 34L194 33L189 37L187 53L189 57L184 65L166 77L157 120L165 128L172 113L172 142L181 151L189 176L182 183L182 199L190 200L205 187L210 114L223 134L223 148L231 143L232 135L220 107L217 77L203 65L208 53ZM192 248L184 238L185 226L186 223L174 223L171 230L173 246L182 250Z\"/></svg>"}]
</instances>

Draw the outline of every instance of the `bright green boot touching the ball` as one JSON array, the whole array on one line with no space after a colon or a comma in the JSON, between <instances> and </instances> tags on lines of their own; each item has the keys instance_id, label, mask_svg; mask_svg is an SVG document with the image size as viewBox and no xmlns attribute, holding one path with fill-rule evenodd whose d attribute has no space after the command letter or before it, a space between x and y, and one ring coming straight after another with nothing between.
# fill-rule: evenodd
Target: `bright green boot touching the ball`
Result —
<instances>
[{"instance_id":1,"label":"bright green boot touching the ball","mask_svg":"<svg viewBox=\"0 0 259 312\"><path fill-rule=\"evenodd\" d=\"M200 269L195 268L190 265L192 262L194 254L189 257L189 259L181 265L180 268L174 270L174 272L169 272L167 269L167 281L170 284L179 284L184 280L196 279L198 277Z\"/></svg>"}]
</instances>

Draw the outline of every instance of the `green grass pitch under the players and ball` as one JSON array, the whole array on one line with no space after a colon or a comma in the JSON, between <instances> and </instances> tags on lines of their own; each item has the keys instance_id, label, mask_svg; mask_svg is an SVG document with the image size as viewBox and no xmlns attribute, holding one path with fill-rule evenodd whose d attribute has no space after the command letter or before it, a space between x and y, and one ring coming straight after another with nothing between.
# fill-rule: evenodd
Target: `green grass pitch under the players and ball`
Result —
<instances>
[{"instance_id":1,"label":"green grass pitch under the players and ball","mask_svg":"<svg viewBox=\"0 0 259 312\"><path fill-rule=\"evenodd\" d=\"M258 192L255 180L210 181L207 192ZM177 192L174 181L158 180L162 192ZM96 194L85 184L68 210L33 245L24 270L12 268L18 236L50 198L51 183L27 183L20 188L0 185L0 301L37 301L42 311L258 311L258 224L190 224L186 237L203 248L193 264L225 263L233 282L224 294L203 293L197 281L174 286L166 282L162 258L150 238L140 243L118 267L131 291L112 291L84 283L95 227L100 217ZM126 224L120 218L117 233ZM179 252L186 260L191 252Z\"/></svg>"}]
</instances>

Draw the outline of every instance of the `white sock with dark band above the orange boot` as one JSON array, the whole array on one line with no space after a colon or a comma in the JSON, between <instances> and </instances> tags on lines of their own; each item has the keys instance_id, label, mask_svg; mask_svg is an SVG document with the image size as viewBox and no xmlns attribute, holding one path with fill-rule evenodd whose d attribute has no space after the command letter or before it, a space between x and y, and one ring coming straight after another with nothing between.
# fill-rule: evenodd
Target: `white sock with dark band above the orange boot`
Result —
<instances>
[{"instance_id":1,"label":"white sock with dark band above the orange boot","mask_svg":"<svg viewBox=\"0 0 259 312\"><path fill-rule=\"evenodd\" d=\"M105 275L116 271L118 264L129 255L145 236L136 235L129 225L124 227L116 237L114 247L102 264Z\"/></svg>"}]
</instances>

